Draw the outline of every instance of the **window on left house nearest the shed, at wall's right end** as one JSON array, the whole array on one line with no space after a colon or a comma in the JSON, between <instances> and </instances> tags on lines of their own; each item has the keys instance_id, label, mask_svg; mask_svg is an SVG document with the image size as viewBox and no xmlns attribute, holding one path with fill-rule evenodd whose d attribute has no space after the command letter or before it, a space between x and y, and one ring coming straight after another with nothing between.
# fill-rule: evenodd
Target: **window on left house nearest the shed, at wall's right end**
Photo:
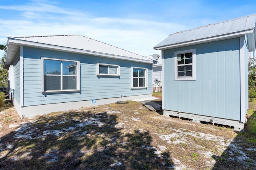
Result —
<instances>
[{"instance_id":1,"label":"window on left house nearest the shed, at wall's right end","mask_svg":"<svg viewBox=\"0 0 256 170\"><path fill-rule=\"evenodd\" d=\"M147 69L132 67L132 88L147 87Z\"/></svg>"}]
</instances>

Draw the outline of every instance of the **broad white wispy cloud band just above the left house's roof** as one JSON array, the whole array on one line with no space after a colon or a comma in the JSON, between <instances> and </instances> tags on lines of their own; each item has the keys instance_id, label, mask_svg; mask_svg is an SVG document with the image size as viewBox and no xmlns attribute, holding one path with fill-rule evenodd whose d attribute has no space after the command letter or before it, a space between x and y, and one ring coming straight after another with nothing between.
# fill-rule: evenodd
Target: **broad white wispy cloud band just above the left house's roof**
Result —
<instances>
[{"instance_id":1,"label":"broad white wispy cloud band just above the left house's roof","mask_svg":"<svg viewBox=\"0 0 256 170\"><path fill-rule=\"evenodd\" d=\"M0 17L0 44L7 36L82 34L93 39L138 53L156 53L154 45L170 33L184 30L177 23L129 18L98 18L88 12L65 9L54 3L32 1L18 6L0 6L0 9L16 11L12 19Z\"/></svg>"}]
</instances>

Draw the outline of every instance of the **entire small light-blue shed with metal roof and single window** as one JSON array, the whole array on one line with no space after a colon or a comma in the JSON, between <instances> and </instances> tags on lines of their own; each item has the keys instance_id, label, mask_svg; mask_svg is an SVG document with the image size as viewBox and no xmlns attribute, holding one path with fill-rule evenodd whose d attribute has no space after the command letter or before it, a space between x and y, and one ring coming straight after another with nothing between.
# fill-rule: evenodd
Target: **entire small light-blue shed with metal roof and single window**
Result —
<instances>
[{"instance_id":1,"label":"entire small light-blue shed with metal roof and single window","mask_svg":"<svg viewBox=\"0 0 256 170\"><path fill-rule=\"evenodd\" d=\"M248 56L256 14L169 35L162 51L164 115L242 131L248 109Z\"/></svg>"}]
</instances>

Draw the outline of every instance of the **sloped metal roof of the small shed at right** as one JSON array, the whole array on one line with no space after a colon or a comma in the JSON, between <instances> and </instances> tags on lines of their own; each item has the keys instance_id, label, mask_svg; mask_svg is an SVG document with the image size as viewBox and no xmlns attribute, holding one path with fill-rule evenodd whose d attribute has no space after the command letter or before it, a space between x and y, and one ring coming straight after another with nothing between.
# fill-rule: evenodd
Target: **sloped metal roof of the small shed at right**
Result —
<instances>
[{"instance_id":1,"label":"sloped metal roof of the small shed at right","mask_svg":"<svg viewBox=\"0 0 256 170\"><path fill-rule=\"evenodd\" d=\"M256 42L255 33L256 14L235 18L228 21L209 24L186 31L180 31L169 35L162 42L154 46L154 49L171 49L194 45L220 39L240 37L247 34L249 50L254 51Z\"/></svg>"}]
</instances>

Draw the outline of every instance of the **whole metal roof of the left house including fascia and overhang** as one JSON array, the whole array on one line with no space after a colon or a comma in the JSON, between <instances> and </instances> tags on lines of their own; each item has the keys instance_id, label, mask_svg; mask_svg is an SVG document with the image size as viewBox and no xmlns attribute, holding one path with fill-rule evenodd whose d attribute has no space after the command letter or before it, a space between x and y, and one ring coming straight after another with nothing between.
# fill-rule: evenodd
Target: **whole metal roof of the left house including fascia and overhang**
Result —
<instances>
[{"instance_id":1,"label":"whole metal roof of the left house including fascia and overhang","mask_svg":"<svg viewBox=\"0 0 256 170\"><path fill-rule=\"evenodd\" d=\"M95 39L82 35L47 35L47 36L26 36L8 37L5 68L8 68L20 47L36 47L71 53L83 53L94 56L101 56L113 59L152 63L152 60L120 49L118 47L102 43Z\"/></svg>"}]
</instances>

